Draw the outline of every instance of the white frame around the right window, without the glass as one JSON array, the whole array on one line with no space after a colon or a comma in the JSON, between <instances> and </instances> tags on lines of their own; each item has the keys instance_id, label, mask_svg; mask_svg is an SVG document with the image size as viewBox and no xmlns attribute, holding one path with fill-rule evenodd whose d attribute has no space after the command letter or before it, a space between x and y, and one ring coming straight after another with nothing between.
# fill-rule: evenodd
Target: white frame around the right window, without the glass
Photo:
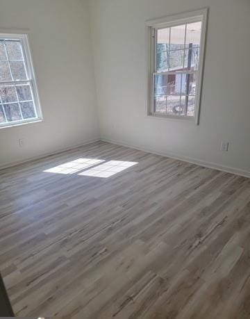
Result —
<instances>
[{"instance_id":1,"label":"white frame around the right window, without the glass","mask_svg":"<svg viewBox=\"0 0 250 319\"><path fill-rule=\"evenodd\" d=\"M199 124L199 113L201 104L201 87L203 80L203 64L206 47L206 28L208 19L208 8L196 10L179 15L169 15L160 19L153 19L146 22L147 35L147 116L161 117L174 120L188 120ZM188 115L168 115L153 112L153 74L156 73L156 32L158 28L168 28L181 24L189 24L192 22L201 22L201 43L199 51L199 70L197 72L197 93L194 105L194 116ZM163 72L164 74L165 72ZM158 73L160 74L160 73Z\"/></svg>"}]
</instances>

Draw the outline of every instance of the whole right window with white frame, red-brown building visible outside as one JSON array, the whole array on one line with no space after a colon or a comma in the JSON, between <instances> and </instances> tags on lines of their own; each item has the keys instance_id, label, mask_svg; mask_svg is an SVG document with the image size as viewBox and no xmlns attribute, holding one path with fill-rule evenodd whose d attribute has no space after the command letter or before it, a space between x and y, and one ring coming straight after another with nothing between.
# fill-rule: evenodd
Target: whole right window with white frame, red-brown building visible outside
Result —
<instances>
[{"instance_id":1,"label":"whole right window with white frame, red-brown building visible outside","mask_svg":"<svg viewBox=\"0 0 250 319\"><path fill-rule=\"evenodd\" d=\"M148 115L199 120L207 10L147 22Z\"/></svg>"}]
</instances>

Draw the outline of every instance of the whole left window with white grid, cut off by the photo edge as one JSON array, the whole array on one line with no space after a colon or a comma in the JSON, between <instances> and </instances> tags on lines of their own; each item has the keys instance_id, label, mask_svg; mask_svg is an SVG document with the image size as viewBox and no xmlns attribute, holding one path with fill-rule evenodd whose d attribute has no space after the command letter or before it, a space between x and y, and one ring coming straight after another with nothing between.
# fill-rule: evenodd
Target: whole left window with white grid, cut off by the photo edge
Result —
<instances>
[{"instance_id":1,"label":"whole left window with white grid, cut off by the photo edge","mask_svg":"<svg viewBox=\"0 0 250 319\"><path fill-rule=\"evenodd\" d=\"M0 127L41 119L28 38L0 34Z\"/></svg>"}]
</instances>

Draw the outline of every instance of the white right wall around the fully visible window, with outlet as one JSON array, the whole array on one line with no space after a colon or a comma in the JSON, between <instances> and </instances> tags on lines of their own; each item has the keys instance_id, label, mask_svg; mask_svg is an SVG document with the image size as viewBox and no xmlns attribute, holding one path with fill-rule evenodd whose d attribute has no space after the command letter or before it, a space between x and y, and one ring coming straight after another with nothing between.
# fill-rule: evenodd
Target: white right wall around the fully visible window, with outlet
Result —
<instances>
[{"instance_id":1,"label":"white right wall around the fully visible window, with outlet","mask_svg":"<svg viewBox=\"0 0 250 319\"><path fill-rule=\"evenodd\" d=\"M200 125L146 117L145 21L206 6ZM90 0L90 9L101 137L250 176L250 1Z\"/></svg>"}]
</instances>

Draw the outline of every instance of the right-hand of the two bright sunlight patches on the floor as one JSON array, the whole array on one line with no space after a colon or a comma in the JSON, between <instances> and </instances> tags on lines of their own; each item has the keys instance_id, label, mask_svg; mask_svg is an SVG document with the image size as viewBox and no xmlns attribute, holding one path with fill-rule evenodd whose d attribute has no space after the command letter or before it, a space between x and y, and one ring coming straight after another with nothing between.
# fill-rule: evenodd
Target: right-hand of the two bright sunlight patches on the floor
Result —
<instances>
[{"instance_id":1,"label":"right-hand of the two bright sunlight patches on the floor","mask_svg":"<svg viewBox=\"0 0 250 319\"><path fill-rule=\"evenodd\" d=\"M78 175L108 178L136 164L138 164L138 162L108 161L101 165L92 167L89 170L85 170Z\"/></svg>"}]
</instances>

